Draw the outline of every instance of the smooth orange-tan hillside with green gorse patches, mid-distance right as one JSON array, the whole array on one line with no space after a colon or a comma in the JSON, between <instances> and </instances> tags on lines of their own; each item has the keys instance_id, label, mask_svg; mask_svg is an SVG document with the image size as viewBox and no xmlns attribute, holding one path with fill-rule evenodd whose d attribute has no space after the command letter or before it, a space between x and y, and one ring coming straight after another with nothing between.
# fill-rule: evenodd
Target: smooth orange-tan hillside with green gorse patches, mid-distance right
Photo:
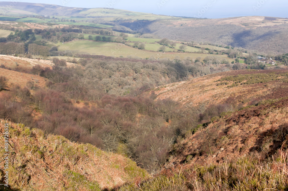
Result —
<instances>
[{"instance_id":1,"label":"smooth orange-tan hillside with green gorse patches, mid-distance right","mask_svg":"<svg viewBox=\"0 0 288 191\"><path fill-rule=\"evenodd\" d=\"M233 70L154 88L157 99L190 106L250 102L288 96L288 70Z\"/></svg>"}]
</instances>

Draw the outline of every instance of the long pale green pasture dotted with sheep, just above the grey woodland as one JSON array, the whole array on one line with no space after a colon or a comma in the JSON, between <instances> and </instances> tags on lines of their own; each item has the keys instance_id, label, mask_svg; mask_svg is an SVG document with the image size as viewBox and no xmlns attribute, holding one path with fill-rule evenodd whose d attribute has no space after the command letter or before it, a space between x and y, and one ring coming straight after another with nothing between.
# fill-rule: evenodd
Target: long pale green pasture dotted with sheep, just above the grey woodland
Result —
<instances>
[{"instance_id":1,"label":"long pale green pasture dotted with sheep, just above the grey woodland","mask_svg":"<svg viewBox=\"0 0 288 191\"><path fill-rule=\"evenodd\" d=\"M79 53L89 53L94 55L105 55L105 56L137 56L142 59L150 58L151 56L158 58L175 58L176 56L180 56L180 58L191 57L197 58L200 57L202 60L209 56L208 54L200 54L200 53L180 53L180 52L150 52L145 50L139 50L133 47L129 47L124 44L118 43L107 43L107 42L96 42L96 41L88 41L88 40L74 40L68 43L58 43L59 50L72 50L77 51ZM221 58L226 58L229 62L232 62L233 59L228 58L226 55L217 55Z\"/></svg>"}]
</instances>

